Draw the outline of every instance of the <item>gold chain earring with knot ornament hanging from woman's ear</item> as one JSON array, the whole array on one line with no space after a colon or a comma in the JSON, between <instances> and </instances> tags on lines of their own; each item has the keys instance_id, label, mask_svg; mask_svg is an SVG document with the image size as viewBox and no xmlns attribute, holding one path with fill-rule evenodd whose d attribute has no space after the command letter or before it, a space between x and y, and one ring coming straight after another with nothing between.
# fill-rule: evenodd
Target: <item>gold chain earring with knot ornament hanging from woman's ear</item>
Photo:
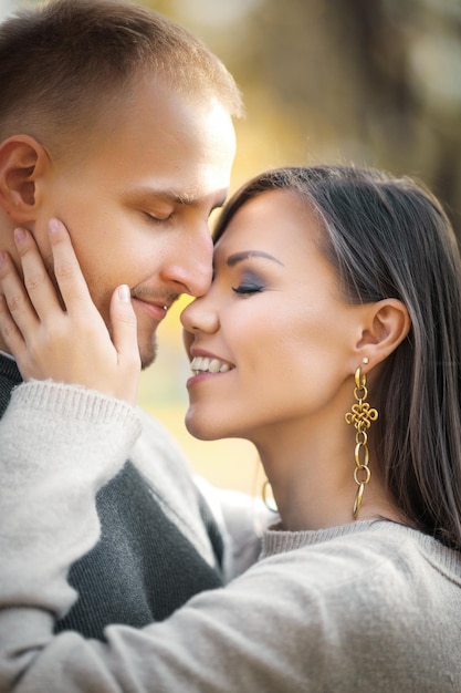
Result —
<instances>
[{"instance_id":1,"label":"gold chain earring with knot ornament hanging from woman's ear","mask_svg":"<svg viewBox=\"0 0 461 693\"><path fill-rule=\"evenodd\" d=\"M368 363L368 359L366 356L364 359L364 363ZM352 411L347 412L345 420L347 424L354 424L356 430L354 480L357 484L358 489L354 500L353 517L354 519L357 519L365 486L368 484L371 476L371 472L368 467L369 453L368 434L366 430L370 427L371 421L376 421L378 418L378 412L375 408L371 408L368 402L366 402L368 396L367 376L365 373L362 373L360 366L357 368L354 377L354 397L357 403L353 404ZM360 462L360 454L363 454L363 462Z\"/></svg>"}]
</instances>

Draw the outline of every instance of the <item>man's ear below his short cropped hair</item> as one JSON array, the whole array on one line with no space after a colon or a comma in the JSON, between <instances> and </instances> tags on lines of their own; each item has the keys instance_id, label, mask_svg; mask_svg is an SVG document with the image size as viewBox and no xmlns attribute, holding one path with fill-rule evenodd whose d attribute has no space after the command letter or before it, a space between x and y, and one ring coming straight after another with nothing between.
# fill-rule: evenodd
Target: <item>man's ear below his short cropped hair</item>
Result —
<instances>
[{"instance_id":1,"label":"man's ear below his short cropped hair","mask_svg":"<svg viewBox=\"0 0 461 693\"><path fill-rule=\"evenodd\" d=\"M45 149L29 135L13 135L0 146L0 208L17 224L35 219L38 182L48 161Z\"/></svg>"}]
</instances>

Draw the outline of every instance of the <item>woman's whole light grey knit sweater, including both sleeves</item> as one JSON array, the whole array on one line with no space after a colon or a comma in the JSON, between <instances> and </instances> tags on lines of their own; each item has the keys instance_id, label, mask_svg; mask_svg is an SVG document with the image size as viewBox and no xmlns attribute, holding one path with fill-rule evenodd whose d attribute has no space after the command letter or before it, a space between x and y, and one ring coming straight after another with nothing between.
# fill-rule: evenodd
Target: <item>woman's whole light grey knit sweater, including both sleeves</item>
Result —
<instances>
[{"instance_id":1,"label":"woman's whole light grey knit sweater, including both sleeves","mask_svg":"<svg viewBox=\"0 0 461 693\"><path fill-rule=\"evenodd\" d=\"M109 397L31 383L6 422L1 693L460 693L461 557L388 521L268 530L255 566L161 623L109 627L105 643L53 634L75 599L69 565L98 537L96 490L139 421Z\"/></svg>"}]
</instances>

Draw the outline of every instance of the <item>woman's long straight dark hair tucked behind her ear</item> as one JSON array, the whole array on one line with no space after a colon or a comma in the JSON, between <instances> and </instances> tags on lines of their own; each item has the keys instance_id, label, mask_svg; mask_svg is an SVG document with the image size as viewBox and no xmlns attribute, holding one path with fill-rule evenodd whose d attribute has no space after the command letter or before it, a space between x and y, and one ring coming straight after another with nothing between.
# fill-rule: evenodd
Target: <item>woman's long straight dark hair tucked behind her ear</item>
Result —
<instances>
[{"instance_id":1,"label":"woman's long straight dark hair tucked behind her ear","mask_svg":"<svg viewBox=\"0 0 461 693\"><path fill-rule=\"evenodd\" d=\"M407 177L290 167L245 184L214 239L242 205L270 190L290 190L315 210L322 250L346 300L396 298L407 307L410 332L373 394L380 474L411 524L460 549L461 261L450 221L433 195Z\"/></svg>"}]
</instances>

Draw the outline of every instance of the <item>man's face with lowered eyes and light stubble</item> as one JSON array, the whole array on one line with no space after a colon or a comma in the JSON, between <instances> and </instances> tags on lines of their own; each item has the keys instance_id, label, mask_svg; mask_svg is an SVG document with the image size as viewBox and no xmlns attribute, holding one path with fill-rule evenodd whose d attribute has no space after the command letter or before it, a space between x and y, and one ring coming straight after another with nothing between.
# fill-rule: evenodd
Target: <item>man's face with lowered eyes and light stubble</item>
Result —
<instances>
[{"instance_id":1,"label":"man's face with lowered eyes and light stubble","mask_svg":"<svg viewBox=\"0 0 461 693\"><path fill-rule=\"evenodd\" d=\"M234 130L218 102L189 103L144 83L92 131L91 141L75 143L73 163L51 162L35 235L46 256L48 219L67 226L107 325L115 287L130 287L145 368L155 358L164 307L209 287L208 218L227 195Z\"/></svg>"}]
</instances>

